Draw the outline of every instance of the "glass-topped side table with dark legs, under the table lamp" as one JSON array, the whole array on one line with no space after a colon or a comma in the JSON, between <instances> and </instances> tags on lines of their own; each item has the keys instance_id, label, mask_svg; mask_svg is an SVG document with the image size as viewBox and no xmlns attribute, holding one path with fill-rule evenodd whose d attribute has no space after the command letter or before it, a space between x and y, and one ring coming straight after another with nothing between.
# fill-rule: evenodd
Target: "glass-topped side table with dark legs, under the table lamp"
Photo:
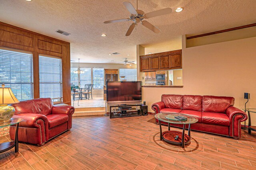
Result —
<instances>
[{"instance_id":1,"label":"glass-topped side table with dark legs, under the table lamp","mask_svg":"<svg viewBox=\"0 0 256 170\"><path fill-rule=\"evenodd\" d=\"M19 129L19 123L23 121L21 118L11 118L9 122L6 123L0 123L0 128L8 127L10 125L16 124L16 130L15 130L15 139L12 142L5 142L0 143L0 153L5 152L7 150L12 149L15 147L15 152L19 151L19 143L18 143L18 129Z\"/></svg>"}]
</instances>

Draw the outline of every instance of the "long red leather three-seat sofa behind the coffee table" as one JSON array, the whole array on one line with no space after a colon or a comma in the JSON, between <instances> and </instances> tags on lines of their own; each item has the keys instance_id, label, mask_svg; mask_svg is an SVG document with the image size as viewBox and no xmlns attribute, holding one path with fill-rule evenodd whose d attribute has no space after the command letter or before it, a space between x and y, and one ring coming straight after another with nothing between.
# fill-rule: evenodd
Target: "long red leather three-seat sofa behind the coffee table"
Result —
<instances>
[{"instance_id":1,"label":"long red leather three-seat sofa behind the coffee table","mask_svg":"<svg viewBox=\"0 0 256 170\"><path fill-rule=\"evenodd\" d=\"M155 114L167 111L194 115L198 122L191 124L192 130L240 139L241 122L246 121L247 115L234 107L234 101L233 97L164 94L161 102L152 104L152 109Z\"/></svg>"}]
</instances>

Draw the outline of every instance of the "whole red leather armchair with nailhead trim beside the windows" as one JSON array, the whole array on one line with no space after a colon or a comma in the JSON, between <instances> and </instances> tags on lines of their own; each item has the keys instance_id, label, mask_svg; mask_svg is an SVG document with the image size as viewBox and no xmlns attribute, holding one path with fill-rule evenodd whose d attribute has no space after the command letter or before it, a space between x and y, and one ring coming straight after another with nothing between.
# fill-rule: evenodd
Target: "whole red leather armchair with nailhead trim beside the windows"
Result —
<instances>
[{"instance_id":1,"label":"whole red leather armchair with nailhead trim beside the windows","mask_svg":"<svg viewBox=\"0 0 256 170\"><path fill-rule=\"evenodd\" d=\"M72 106L53 106L50 98L38 98L12 104L13 118L22 118L18 129L20 142L44 145L50 139L72 127ZM14 140L15 126L10 127L10 138Z\"/></svg>"}]
</instances>

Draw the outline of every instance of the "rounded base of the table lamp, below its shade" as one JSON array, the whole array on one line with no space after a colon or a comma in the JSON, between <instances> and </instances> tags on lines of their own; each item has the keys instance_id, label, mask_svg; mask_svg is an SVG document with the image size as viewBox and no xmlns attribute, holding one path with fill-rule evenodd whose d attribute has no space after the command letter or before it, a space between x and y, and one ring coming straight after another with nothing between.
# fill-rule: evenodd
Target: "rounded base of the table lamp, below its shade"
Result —
<instances>
[{"instance_id":1,"label":"rounded base of the table lamp, below its shade","mask_svg":"<svg viewBox=\"0 0 256 170\"><path fill-rule=\"evenodd\" d=\"M15 109L12 106L0 105L0 124L10 121L10 118L14 115Z\"/></svg>"}]
</instances>

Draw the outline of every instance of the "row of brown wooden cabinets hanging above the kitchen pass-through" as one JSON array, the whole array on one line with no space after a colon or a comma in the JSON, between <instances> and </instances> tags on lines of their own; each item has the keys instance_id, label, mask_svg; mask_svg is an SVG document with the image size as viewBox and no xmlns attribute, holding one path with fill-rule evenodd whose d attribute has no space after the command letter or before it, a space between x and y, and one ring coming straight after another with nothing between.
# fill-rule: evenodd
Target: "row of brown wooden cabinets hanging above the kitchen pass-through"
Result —
<instances>
[{"instance_id":1,"label":"row of brown wooden cabinets hanging above the kitchen pass-through","mask_svg":"<svg viewBox=\"0 0 256 170\"><path fill-rule=\"evenodd\" d=\"M182 50L140 56L140 71L173 70L182 68Z\"/></svg>"}]
</instances>

